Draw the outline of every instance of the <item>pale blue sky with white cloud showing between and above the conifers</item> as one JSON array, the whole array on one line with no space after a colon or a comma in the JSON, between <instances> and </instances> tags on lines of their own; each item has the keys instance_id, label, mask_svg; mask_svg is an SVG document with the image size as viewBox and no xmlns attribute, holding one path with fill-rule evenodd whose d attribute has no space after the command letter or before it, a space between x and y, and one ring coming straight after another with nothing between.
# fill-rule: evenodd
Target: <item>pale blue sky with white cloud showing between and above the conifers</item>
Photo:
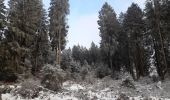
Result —
<instances>
[{"instance_id":1,"label":"pale blue sky with white cloud showing between and above the conifers","mask_svg":"<svg viewBox=\"0 0 170 100\"><path fill-rule=\"evenodd\" d=\"M145 0L69 0L69 32L66 48L78 44L89 48L92 41L99 45L98 12L105 2L113 7L118 16L120 12L125 12L132 2L144 8ZM48 11L50 0L43 0L43 3Z\"/></svg>"}]
</instances>

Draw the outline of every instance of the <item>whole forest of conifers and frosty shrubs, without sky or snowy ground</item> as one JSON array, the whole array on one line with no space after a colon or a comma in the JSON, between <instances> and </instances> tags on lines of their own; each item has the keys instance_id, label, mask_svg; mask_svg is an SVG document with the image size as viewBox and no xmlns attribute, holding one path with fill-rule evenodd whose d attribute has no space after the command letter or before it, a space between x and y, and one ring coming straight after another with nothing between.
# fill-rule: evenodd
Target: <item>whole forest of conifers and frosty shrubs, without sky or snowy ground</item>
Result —
<instances>
[{"instance_id":1,"label":"whole forest of conifers and frosty shrubs, without sky or snowy ground","mask_svg":"<svg viewBox=\"0 0 170 100\"><path fill-rule=\"evenodd\" d=\"M40 95L39 91L61 92L63 83L68 81L94 86L106 78L112 84L105 87L120 82L120 88L132 89L130 95L120 89L114 94L119 95L116 100L142 95L145 91L138 84L144 85L143 80L149 82L148 87L153 84L158 87L156 90L152 87L149 96L170 98L170 89L164 90L170 87L169 0L146 0L143 10L132 3L119 15L105 2L97 21L100 46L92 42L90 48L79 44L69 49L65 48L69 0L51 0L48 13L42 0L9 0L9 8L4 1L0 0L0 85L16 87L1 87L2 99L5 93L34 99ZM17 88L18 85L21 87ZM89 90L88 86L84 87ZM100 100L102 97L79 94L76 98Z\"/></svg>"}]
</instances>

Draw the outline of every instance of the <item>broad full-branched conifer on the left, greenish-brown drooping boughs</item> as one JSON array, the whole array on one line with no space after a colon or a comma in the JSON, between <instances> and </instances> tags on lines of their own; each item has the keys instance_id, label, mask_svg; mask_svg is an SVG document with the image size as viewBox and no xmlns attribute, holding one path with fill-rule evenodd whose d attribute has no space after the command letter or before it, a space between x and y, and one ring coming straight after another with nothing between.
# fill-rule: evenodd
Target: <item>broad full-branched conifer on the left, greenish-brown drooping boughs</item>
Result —
<instances>
[{"instance_id":1,"label":"broad full-branched conifer on the left, greenish-brown drooping boughs","mask_svg":"<svg viewBox=\"0 0 170 100\"><path fill-rule=\"evenodd\" d=\"M13 65L18 68L31 69L36 66L37 55L34 54L37 34L42 16L41 0L10 0L8 15L8 32L6 38L10 44ZM27 62L32 64L26 64Z\"/></svg>"}]
</instances>

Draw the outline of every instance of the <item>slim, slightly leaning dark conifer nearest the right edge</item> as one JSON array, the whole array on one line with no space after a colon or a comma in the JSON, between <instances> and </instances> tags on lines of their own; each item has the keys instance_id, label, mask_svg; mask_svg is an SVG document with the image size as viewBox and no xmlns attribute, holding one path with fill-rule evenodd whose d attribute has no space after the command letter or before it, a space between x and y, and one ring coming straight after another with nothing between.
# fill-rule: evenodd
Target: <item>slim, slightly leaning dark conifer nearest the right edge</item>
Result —
<instances>
[{"instance_id":1,"label":"slim, slightly leaning dark conifer nearest the right edge","mask_svg":"<svg viewBox=\"0 0 170 100\"><path fill-rule=\"evenodd\" d=\"M163 35L161 32L161 20L160 20L160 2L159 0L153 0L153 4L154 4L154 32L157 34L156 36L156 40L157 40L157 44L156 47L158 50L157 54L159 57L157 57L157 59L159 59L159 64L158 64L158 70L159 70L159 75L161 77L161 79L164 79L164 76L166 74L167 71L167 61L166 61L166 55L165 55L165 50L164 50L164 40L163 40Z\"/></svg>"}]
</instances>

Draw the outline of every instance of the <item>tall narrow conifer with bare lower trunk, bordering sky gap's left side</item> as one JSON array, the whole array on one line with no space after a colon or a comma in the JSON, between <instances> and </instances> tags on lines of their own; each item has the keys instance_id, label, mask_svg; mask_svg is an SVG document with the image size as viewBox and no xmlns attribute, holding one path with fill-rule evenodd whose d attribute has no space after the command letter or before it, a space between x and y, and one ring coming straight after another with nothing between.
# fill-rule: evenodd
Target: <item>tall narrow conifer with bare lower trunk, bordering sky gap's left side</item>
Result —
<instances>
[{"instance_id":1,"label":"tall narrow conifer with bare lower trunk, bordering sky gap's left side","mask_svg":"<svg viewBox=\"0 0 170 100\"><path fill-rule=\"evenodd\" d=\"M60 65L61 51L65 47L68 32L67 15L69 14L68 0L51 0L50 3L50 38L52 48L56 50L56 63Z\"/></svg>"}]
</instances>

